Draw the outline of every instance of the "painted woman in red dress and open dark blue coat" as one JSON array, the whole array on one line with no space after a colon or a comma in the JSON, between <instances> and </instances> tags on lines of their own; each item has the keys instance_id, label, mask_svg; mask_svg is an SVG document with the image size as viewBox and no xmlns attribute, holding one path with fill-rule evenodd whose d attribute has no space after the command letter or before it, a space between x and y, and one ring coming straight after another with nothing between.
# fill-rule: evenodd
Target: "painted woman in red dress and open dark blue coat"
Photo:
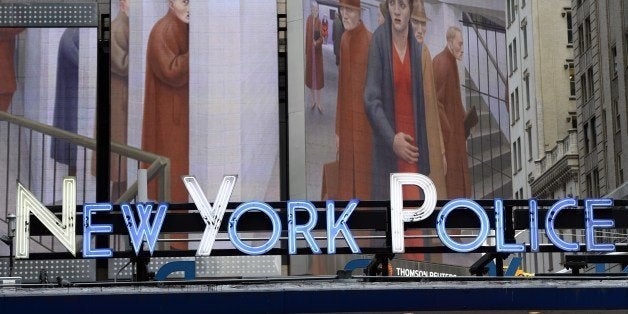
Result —
<instances>
[{"instance_id":1,"label":"painted woman in red dress and open dark blue coat","mask_svg":"<svg viewBox=\"0 0 628 314\"><path fill-rule=\"evenodd\" d=\"M412 2L389 1L388 11L371 39L364 90L373 130L373 199L390 198L391 173L430 174L421 45L410 26ZM404 188L404 199L419 197L418 189Z\"/></svg>"}]
</instances>

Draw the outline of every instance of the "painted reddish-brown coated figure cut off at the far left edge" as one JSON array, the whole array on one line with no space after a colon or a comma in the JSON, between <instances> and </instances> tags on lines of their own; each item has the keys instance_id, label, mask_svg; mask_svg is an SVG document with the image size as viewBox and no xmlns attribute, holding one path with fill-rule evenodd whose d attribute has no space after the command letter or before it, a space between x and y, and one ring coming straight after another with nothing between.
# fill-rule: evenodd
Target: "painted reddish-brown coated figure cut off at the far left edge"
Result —
<instances>
[{"instance_id":1,"label":"painted reddish-brown coated figure cut off at the far left edge","mask_svg":"<svg viewBox=\"0 0 628 314\"><path fill-rule=\"evenodd\" d=\"M0 28L0 111L8 111L13 93L17 89L15 81L15 39L23 28Z\"/></svg>"}]
</instances>

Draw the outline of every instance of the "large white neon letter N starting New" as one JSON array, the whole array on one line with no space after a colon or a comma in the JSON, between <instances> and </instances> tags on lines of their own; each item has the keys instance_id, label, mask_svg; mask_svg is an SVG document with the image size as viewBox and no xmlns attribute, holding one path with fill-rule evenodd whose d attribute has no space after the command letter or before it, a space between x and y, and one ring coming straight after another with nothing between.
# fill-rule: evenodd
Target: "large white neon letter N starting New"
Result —
<instances>
[{"instance_id":1,"label":"large white neon letter N starting New","mask_svg":"<svg viewBox=\"0 0 628 314\"><path fill-rule=\"evenodd\" d=\"M28 258L30 236L30 214L33 213L50 233L76 256L76 179L63 179L63 199L61 220L42 204L33 193L18 182L15 258Z\"/></svg>"}]
</instances>

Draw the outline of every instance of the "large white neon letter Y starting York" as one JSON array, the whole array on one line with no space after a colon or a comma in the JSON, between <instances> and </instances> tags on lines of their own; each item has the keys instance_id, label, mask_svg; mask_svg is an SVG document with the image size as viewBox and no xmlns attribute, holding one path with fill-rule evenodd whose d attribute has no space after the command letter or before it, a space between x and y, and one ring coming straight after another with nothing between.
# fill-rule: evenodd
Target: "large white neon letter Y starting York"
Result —
<instances>
[{"instance_id":1,"label":"large white neon letter Y starting York","mask_svg":"<svg viewBox=\"0 0 628 314\"><path fill-rule=\"evenodd\" d=\"M188 193L190 193L192 201L196 204L196 208L198 208L206 225L201 243L198 245L198 250L196 251L196 256L209 256L211 253L216 235L218 234L218 229L220 228L220 223L222 222L222 216L224 216L225 210L227 209L227 203L229 203L229 198L231 197L231 192L235 187L237 178L237 176L225 176L222 179L222 184L218 189L218 195L216 195L216 201L212 207L207 197L205 197L203 189L201 189L198 181L196 181L196 178L193 176L183 177L183 184L185 184L185 188L188 190Z\"/></svg>"}]
</instances>

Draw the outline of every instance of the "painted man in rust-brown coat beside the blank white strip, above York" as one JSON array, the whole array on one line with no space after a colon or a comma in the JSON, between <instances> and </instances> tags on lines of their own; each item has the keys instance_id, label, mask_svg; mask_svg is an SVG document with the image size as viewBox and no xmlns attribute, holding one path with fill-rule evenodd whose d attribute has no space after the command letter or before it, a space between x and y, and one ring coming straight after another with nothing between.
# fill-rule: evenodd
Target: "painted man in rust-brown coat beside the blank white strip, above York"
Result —
<instances>
[{"instance_id":1,"label":"painted man in rust-brown coat beside the blank white strip, above York","mask_svg":"<svg viewBox=\"0 0 628 314\"><path fill-rule=\"evenodd\" d=\"M187 0L169 0L153 27L146 52L142 149L170 158L171 202L187 202L181 181L189 163L189 10ZM156 186L149 197L156 199Z\"/></svg>"}]
</instances>

